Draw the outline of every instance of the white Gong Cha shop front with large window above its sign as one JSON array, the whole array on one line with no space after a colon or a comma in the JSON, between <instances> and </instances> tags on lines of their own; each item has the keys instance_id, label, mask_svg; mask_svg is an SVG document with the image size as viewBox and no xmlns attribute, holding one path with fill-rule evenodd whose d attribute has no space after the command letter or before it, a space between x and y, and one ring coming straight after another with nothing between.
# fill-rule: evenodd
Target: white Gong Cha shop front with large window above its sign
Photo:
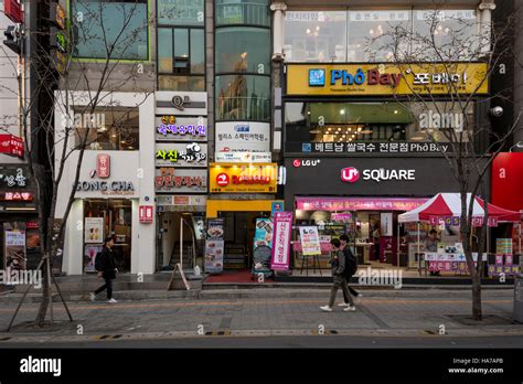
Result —
<instances>
[{"instance_id":1,"label":"white Gong Cha shop front with large window above its sign","mask_svg":"<svg viewBox=\"0 0 523 384\"><path fill-rule=\"evenodd\" d=\"M65 96L64 96L65 97ZM96 255L107 236L119 273L154 273L154 97L114 93L94 114L82 115L82 93L70 94L76 103L55 113L55 129L74 116L77 129L88 129L78 182L78 151L71 149L58 186L55 224L63 220L75 191L64 234L62 271L95 273ZM117 106L115 106L117 105ZM78 109L75 109L78 108ZM76 113L79 110L78 113ZM65 114L67 111L67 115ZM76 138L68 145L77 146ZM62 153L58 142L56 153ZM57 160L58 161L58 160Z\"/></svg>"}]
</instances>

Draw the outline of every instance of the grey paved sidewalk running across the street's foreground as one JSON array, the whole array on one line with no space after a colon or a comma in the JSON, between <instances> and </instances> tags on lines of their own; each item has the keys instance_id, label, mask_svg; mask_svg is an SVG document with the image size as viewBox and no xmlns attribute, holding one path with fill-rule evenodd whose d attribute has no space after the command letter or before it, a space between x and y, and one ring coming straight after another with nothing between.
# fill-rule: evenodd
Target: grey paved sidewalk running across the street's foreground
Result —
<instances>
[{"instance_id":1,"label":"grey paved sidewalk running across the street's foreground","mask_svg":"<svg viewBox=\"0 0 523 384\"><path fill-rule=\"evenodd\" d=\"M194 338L200 335L311 335L325 334L394 337L487 337L523 335L523 326L512 324L513 292L489 290L483 294L484 321L470 318L470 292L455 290L361 290L356 312L335 307L320 311L328 289L248 289L234 292L206 292L195 298L169 300L121 300L70 302L74 322L63 307L54 305L58 321L53 330L30 326L38 303L22 307L12 332L4 332L15 308L0 308L0 345L23 340L99 341L121 338ZM223 294L232 295L231 297ZM245 297L242 297L245 295ZM341 301L341 294L338 296ZM77 334L82 326L83 334ZM203 334L198 331L202 330ZM444 333L440 333L441 330ZM100 339L102 338L102 339Z\"/></svg>"}]
</instances>

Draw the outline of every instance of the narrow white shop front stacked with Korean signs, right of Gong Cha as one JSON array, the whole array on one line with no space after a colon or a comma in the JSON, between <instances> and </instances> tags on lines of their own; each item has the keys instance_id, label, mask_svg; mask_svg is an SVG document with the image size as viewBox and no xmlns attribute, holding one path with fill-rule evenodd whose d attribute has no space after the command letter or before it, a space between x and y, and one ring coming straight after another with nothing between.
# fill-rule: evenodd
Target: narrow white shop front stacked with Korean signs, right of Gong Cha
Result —
<instances>
[{"instance_id":1,"label":"narrow white shop front stacked with Korean signs, right of Gong Cha","mask_svg":"<svg viewBox=\"0 0 523 384\"><path fill-rule=\"evenodd\" d=\"M156 94L157 270L203 266L207 199L207 94Z\"/></svg>"}]
</instances>

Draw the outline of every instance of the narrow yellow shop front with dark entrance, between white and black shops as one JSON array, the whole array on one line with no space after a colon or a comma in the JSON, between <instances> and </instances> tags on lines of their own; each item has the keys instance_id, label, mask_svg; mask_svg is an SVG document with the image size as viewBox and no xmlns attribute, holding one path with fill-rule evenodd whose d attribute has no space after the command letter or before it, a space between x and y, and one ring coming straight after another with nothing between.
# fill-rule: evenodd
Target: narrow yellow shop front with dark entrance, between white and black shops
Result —
<instances>
[{"instance_id":1,"label":"narrow yellow shop front with dark entrance, between white and black shops","mask_svg":"<svg viewBox=\"0 0 523 384\"><path fill-rule=\"evenodd\" d=\"M284 207L282 201L275 200L277 164L211 163L209 173L206 215L214 224L207 226L207 232L218 222L223 228L223 243L217 243L224 247L223 260L214 263L221 264L223 269L245 270L256 264L255 256L264 249L268 249L266 254L270 257L271 216ZM215 259L215 252L209 250L205 257Z\"/></svg>"}]
</instances>

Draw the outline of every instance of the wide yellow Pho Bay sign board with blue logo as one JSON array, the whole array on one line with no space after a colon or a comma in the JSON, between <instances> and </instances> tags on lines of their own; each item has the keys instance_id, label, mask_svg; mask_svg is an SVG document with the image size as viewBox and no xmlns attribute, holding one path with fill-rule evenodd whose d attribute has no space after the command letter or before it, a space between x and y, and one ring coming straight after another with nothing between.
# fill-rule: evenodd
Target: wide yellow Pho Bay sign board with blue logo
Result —
<instances>
[{"instance_id":1,"label":"wide yellow Pho Bay sign board with blue logo","mask_svg":"<svg viewBox=\"0 0 523 384\"><path fill-rule=\"evenodd\" d=\"M488 94L485 63L289 64L287 95Z\"/></svg>"}]
</instances>

